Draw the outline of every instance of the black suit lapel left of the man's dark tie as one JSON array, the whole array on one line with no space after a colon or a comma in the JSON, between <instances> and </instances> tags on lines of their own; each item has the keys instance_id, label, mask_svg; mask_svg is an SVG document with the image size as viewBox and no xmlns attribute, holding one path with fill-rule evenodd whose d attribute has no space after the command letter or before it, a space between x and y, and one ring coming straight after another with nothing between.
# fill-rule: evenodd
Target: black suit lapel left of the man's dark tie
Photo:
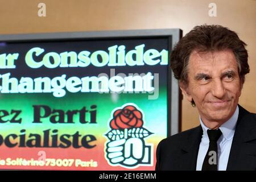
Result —
<instances>
[{"instance_id":1,"label":"black suit lapel left of the man's dark tie","mask_svg":"<svg viewBox=\"0 0 256 182\"><path fill-rule=\"evenodd\" d=\"M181 154L176 159L179 170L196 170L197 154L203 130L201 126L195 128L181 146Z\"/></svg>"}]
</instances>

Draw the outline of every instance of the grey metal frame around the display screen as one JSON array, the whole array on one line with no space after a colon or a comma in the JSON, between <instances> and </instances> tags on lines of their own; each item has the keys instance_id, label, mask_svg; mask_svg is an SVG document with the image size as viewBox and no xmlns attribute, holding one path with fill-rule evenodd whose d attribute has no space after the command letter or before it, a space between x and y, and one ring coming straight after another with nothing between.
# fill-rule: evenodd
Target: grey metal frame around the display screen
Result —
<instances>
[{"instance_id":1,"label":"grey metal frame around the display screen","mask_svg":"<svg viewBox=\"0 0 256 182\"><path fill-rule=\"evenodd\" d=\"M120 39L120 38L167 38L168 51L174 48L182 37L179 28L148 29L148 30L113 30L113 31L84 31L84 32L54 32L36 34L6 34L0 35L0 43L40 42L55 40L92 40L92 39ZM167 137L181 131L181 99L179 84L168 62L167 83Z\"/></svg>"}]
</instances>

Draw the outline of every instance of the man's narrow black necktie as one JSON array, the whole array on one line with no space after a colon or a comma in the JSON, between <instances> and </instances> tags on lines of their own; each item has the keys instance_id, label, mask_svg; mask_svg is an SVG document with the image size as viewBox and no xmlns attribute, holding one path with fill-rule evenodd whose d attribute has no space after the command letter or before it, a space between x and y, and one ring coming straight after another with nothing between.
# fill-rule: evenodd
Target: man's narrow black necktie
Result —
<instances>
[{"instance_id":1,"label":"man's narrow black necktie","mask_svg":"<svg viewBox=\"0 0 256 182\"><path fill-rule=\"evenodd\" d=\"M222 135L221 130L207 130L209 148L204 158L202 171L217 171L218 147L217 140Z\"/></svg>"}]
</instances>

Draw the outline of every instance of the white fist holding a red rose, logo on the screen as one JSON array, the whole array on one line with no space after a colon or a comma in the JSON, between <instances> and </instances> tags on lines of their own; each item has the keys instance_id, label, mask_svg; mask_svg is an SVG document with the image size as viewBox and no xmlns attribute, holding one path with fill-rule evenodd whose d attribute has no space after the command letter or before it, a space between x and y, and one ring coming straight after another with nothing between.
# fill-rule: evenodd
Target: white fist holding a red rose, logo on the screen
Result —
<instances>
[{"instance_id":1,"label":"white fist holding a red rose, logo on the screen","mask_svg":"<svg viewBox=\"0 0 256 182\"><path fill-rule=\"evenodd\" d=\"M129 104L128 106L126 105L125 107L123 107L122 110L116 109L113 114L114 117L117 118L119 115L122 114L122 111L127 108L134 109L131 111L134 111L135 114L138 111L137 110L138 106L135 107ZM139 112L142 113L141 111ZM119 115L116 113L118 113ZM130 118L130 120L131 118L134 118L134 115L129 116L129 111L126 111L126 113L125 113L126 114L125 116L127 116L127 118ZM123 118L123 115L121 115L120 118ZM137 118L139 118L142 122L142 114L141 116L138 114ZM117 126L118 124L124 126L123 123L118 123L118 122L122 122L121 119L119 118L115 120L114 119L111 120L112 123L110 123L110 127ZM127 119L127 121L129 120ZM116 123L113 123L113 122L116 122ZM129 122L126 122L125 124L128 125L127 123L129 124ZM126 168L136 168L138 166L151 166L152 146L146 145L144 138L148 137L152 133L150 133L150 131L148 131L147 129L144 129L142 125L143 125L143 122L141 124L141 127L130 127L130 128L124 128L124 129L118 128L118 127L112 127L112 130L110 130L106 134L106 137L108 137L109 141L106 142L105 158L108 160L110 165L122 166Z\"/></svg>"}]
</instances>

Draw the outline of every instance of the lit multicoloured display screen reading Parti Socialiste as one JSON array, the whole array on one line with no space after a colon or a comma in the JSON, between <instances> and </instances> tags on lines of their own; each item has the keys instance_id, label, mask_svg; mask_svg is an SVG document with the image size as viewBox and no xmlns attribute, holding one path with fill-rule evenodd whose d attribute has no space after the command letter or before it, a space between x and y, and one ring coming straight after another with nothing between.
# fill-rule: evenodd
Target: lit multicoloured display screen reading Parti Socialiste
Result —
<instances>
[{"instance_id":1,"label":"lit multicoloured display screen reading Parti Socialiste","mask_svg":"<svg viewBox=\"0 0 256 182\"><path fill-rule=\"evenodd\" d=\"M154 170L168 37L0 43L0 169Z\"/></svg>"}]
</instances>

